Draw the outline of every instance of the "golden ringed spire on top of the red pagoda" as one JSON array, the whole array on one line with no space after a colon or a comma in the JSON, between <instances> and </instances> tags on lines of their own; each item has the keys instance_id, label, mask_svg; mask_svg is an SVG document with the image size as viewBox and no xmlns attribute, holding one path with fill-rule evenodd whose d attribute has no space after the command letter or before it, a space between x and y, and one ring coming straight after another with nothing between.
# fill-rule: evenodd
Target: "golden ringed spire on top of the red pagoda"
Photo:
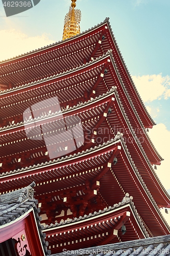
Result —
<instances>
[{"instance_id":1,"label":"golden ringed spire on top of the red pagoda","mask_svg":"<svg viewBox=\"0 0 170 256\"><path fill-rule=\"evenodd\" d=\"M81 11L75 9L76 1L71 0L71 6L69 8L69 12L65 15L64 18L64 31L63 31L63 40L70 38L74 35L80 34L80 20L81 20Z\"/></svg>"}]
</instances>

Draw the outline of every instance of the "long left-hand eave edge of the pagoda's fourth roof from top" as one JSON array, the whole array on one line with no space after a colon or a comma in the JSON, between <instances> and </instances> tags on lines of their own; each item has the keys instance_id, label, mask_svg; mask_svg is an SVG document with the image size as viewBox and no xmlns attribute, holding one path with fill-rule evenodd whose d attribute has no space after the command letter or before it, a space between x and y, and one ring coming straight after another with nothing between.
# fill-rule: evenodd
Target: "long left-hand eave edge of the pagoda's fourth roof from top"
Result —
<instances>
[{"instance_id":1,"label":"long left-hand eave edge of the pagoda's fourth roof from top","mask_svg":"<svg viewBox=\"0 0 170 256\"><path fill-rule=\"evenodd\" d=\"M69 166L77 162L81 163L83 161L86 161L86 159L93 159L93 158L95 159L101 154L105 155L106 150L107 152L108 151L113 152L113 148L119 144L120 144L119 139L117 140L112 139L111 141L108 141L107 143L103 143L102 145L95 146L94 148L91 147L89 150L86 150L85 152L82 151L82 152L79 152L78 154L61 157L58 159L54 159L53 161L50 160L49 162L46 162L46 163L37 164L30 167L3 173L0 175L1 190L2 191L11 190L12 184L14 184L13 186L20 187L21 179L23 179L22 182L24 184L30 184L30 179L34 181L35 174L40 176L40 180L44 179L44 180L50 181L52 179L50 173L53 172L55 169L64 168L67 165ZM99 165L99 164L96 164L96 165ZM62 180L65 180L65 177L68 175L69 174L67 173L63 174ZM72 177L76 178L76 176L72 176ZM14 182L11 183L12 181ZM56 180L54 180L54 182L55 181ZM74 180L73 180L73 183L74 183ZM23 186L23 184L21 186Z\"/></svg>"}]
</instances>

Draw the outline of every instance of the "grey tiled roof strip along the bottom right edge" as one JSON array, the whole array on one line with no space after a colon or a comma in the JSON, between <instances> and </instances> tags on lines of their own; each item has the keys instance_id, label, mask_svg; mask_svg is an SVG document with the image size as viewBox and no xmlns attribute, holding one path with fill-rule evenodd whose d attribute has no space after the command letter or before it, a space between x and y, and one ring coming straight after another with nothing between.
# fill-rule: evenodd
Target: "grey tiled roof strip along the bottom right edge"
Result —
<instances>
[{"instance_id":1,"label":"grey tiled roof strip along the bottom right edge","mask_svg":"<svg viewBox=\"0 0 170 256\"><path fill-rule=\"evenodd\" d=\"M123 243L95 246L80 250L65 251L52 256L165 256L170 253L170 235L146 238Z\"/></svg>"}]
</instances>

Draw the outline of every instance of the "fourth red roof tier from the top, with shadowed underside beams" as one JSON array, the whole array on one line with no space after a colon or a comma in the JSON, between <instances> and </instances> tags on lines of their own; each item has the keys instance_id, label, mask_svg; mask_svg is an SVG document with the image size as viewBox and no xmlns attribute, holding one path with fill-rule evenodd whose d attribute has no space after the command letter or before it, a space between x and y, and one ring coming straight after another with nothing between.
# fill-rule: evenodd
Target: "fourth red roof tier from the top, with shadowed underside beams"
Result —
<instances>
[{"instance_id":1,"label":"fourth red roof tier from the top, with shadowed underside beams","mask_svg":"<svg viewBox=\"0 0 170 256\"><path fill-rule=\"evenodd\" d=\"M142 181L125 142L120 138L121 136L104 143L102 146L96 146L77 155L1 175L1 189L13 189L13 187L23 186L30 181L36 180L36 196L39 202L42 203L42 212L46 212L48 208L57 205L57 203L65 205L67 208L71 207L71 205L76 205L77 203L70 203L69 199L69 192L73 193L74 187L77 187L78 191L80 191L81 196L79 196L79 199L91 200L81 192L84 191L83 185L86 185L86 188L88 187L88 181L91 184L91 193L96 190L93 193L93 198L96 194L99 194L96 203L99 200L101 202L102 199L102 203L105 203L106 206L121 201L120 197L123 197L128 191L134 197L136 209L150 236L169 233L169 227L165 224L158 206ZM117 155L118 160L116 165L113 163L115 155ZM96 183L97 181L100 181L100 184ZM65 191L64 188L66 189ZM112 193L110 193L110 188ZM62 197L63 193L64 197ZM70 197L72 198L74 194L71 193ZM58 198L60 194L61 197ZM50 199L50 204L48 199ZM44 207L45 201L46 206ZM56 212L57 207L53 208L53 210ZM50 212L53 213L53 211ZM77 214L79 213L78 211Z\"/></svg>"}]
</instances>

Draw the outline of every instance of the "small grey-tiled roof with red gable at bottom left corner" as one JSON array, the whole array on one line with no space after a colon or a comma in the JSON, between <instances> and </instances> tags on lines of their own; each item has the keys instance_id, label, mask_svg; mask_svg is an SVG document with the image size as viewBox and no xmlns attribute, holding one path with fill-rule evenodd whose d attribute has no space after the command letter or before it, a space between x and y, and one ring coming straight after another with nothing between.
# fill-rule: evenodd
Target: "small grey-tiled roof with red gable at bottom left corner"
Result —
<instances>
[{"instance_id":1,"label":"small grey-tiled roof with red gable at bottom left corner","mask_svg":"<svg viewBox=\"0 0 170 256\"><path fill-rule=\"evenodd\" d=\"M35 182L32 182L27 187L0 195L0 247L1 243L15 236L19 236L19 232L23 228L24 230L27 229L29 237L33 237L34 239L36 236L38 237L36 248L39 250L39 255L50 255L51 251L47 250L48 242L44 240L46 235L42 232L44 226L40 224L40 209L36 206L38 200L34 198L34 186ZM31 224L30 231L23 220L28 218L31 212L33 212L34 218L29 218L28 220L29 227ZM34 226L36 226L36 229L34 229ZM31 233L33 230L36 230L34 234Z\"/></svg>"}]
</instances>

